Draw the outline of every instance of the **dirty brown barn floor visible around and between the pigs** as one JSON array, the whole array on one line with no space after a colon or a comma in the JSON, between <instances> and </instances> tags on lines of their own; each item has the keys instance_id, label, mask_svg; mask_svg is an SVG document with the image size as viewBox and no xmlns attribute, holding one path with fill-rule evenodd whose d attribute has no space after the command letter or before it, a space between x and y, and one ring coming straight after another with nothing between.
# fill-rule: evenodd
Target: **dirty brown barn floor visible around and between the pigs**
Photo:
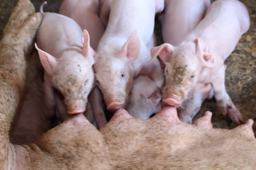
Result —
<instances>
[{"instance_id":1,"label":"dirty brown barn floor visible around and between the pigs","mask_svg":"<svg viewBox=\"0 0 256 170\"><path fill-rule=\"evenodd\" d=\"M42 0L31 0L38 11ZM226 89L230 98L233 99L235 105L240 109L245 120L253 119L256 122L256 1L255 0L241 0L250 11L251 26L250 30L245 33L240 39L233 54L228 57L225 64L226 70ZM17 0L1 0L0 3L0 38L2 30L8 21L11 11L14 8ZM48 5L45 6L44 11L56 12L60 6L61 1L48 0ZM161 26L156 24L156 33L161 33ZM161 38L159 38L159 44ZM213 112L213 125L215 128L235 128L231 120L221 118L216 111L216 104L214 99L203 103L201 111L196 115L196 118L201 117L206 111ZM256 123L253 125L256 132Z\"/></svg>"}]
</instances>

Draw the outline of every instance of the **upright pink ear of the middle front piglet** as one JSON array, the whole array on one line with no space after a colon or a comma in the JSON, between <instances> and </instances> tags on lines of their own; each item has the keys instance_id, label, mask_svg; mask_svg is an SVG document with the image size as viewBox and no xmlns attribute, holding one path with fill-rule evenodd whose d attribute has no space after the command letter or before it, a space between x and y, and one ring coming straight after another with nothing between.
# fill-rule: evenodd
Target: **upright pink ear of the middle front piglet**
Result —
<instances>
[{"instance_id":1,"label":"upright pink ear of the middle front piglet","mask_svg":"<svg viewBox=\"0 0 256 170\"><path fill-rule=\"evenodd\" d=\"M137 60L137 57L139 57L139 38L136 30L134 30L131 37L122 46L119 54L127 56L130 61Z\"/></svg>"}]
</instances>

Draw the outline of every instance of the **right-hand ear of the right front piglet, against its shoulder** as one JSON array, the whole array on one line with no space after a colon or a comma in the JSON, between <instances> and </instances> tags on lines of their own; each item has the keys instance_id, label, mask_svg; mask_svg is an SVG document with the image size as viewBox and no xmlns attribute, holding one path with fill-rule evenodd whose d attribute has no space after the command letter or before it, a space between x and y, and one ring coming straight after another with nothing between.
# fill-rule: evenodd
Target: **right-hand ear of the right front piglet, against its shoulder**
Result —
<instances>
[{"instance_id":1,"label":"right-hand ear of the right front piglet, against its shoulder","mask_svg":"<svg viewBox=\"0 0 256 170\"><path fill-rule=\"evenodd\" d=\"M196 45L196 55L198 55L198 59L203 63L203 66L208 68L215 67L215 58L213 55L210 55L203 40L197 38L194 40L194 43Z\"/></svg>"}]
</instances>

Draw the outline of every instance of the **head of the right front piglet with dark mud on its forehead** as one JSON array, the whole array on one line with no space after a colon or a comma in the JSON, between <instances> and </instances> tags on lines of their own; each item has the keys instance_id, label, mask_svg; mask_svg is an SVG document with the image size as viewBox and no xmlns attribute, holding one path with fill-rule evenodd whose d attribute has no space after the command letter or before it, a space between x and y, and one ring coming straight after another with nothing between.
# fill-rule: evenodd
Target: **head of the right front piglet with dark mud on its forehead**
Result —
<instances>
[{"instance_id":1,"label":"head of the right front piglet with dark mud on its forehead","mask_svg":"<svg viewBox=\"0 0 256 170\"><path fill-rule=\"evenodd\" d=\"M203 68L214 66L213 58L202 50L199 41L183 42L178 47L164 43L151 49L151 56L159 55L166 64L163 101L169 106L180 106L200 80Z\"/></svg>"}]
</instances>

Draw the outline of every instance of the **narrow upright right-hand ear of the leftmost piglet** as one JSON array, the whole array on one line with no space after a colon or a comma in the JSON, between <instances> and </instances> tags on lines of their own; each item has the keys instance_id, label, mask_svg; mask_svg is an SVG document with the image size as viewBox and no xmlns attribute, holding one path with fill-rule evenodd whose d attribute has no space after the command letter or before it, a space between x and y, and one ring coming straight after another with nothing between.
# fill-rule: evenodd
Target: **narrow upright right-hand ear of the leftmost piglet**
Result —
<instances>
[{"instance_id":1,"label":"narrow upright right-hand ear of the leftmost piglet","mask_svg":"<svg viewBox=\"0 0 256 170\"><path fill-rule=\"evenodd\" d=\"M95 51L90 47L90 35L87 30L82 31L82 55L87 57L91 64L95 63Z\"/></svg>"}]
</instances>

